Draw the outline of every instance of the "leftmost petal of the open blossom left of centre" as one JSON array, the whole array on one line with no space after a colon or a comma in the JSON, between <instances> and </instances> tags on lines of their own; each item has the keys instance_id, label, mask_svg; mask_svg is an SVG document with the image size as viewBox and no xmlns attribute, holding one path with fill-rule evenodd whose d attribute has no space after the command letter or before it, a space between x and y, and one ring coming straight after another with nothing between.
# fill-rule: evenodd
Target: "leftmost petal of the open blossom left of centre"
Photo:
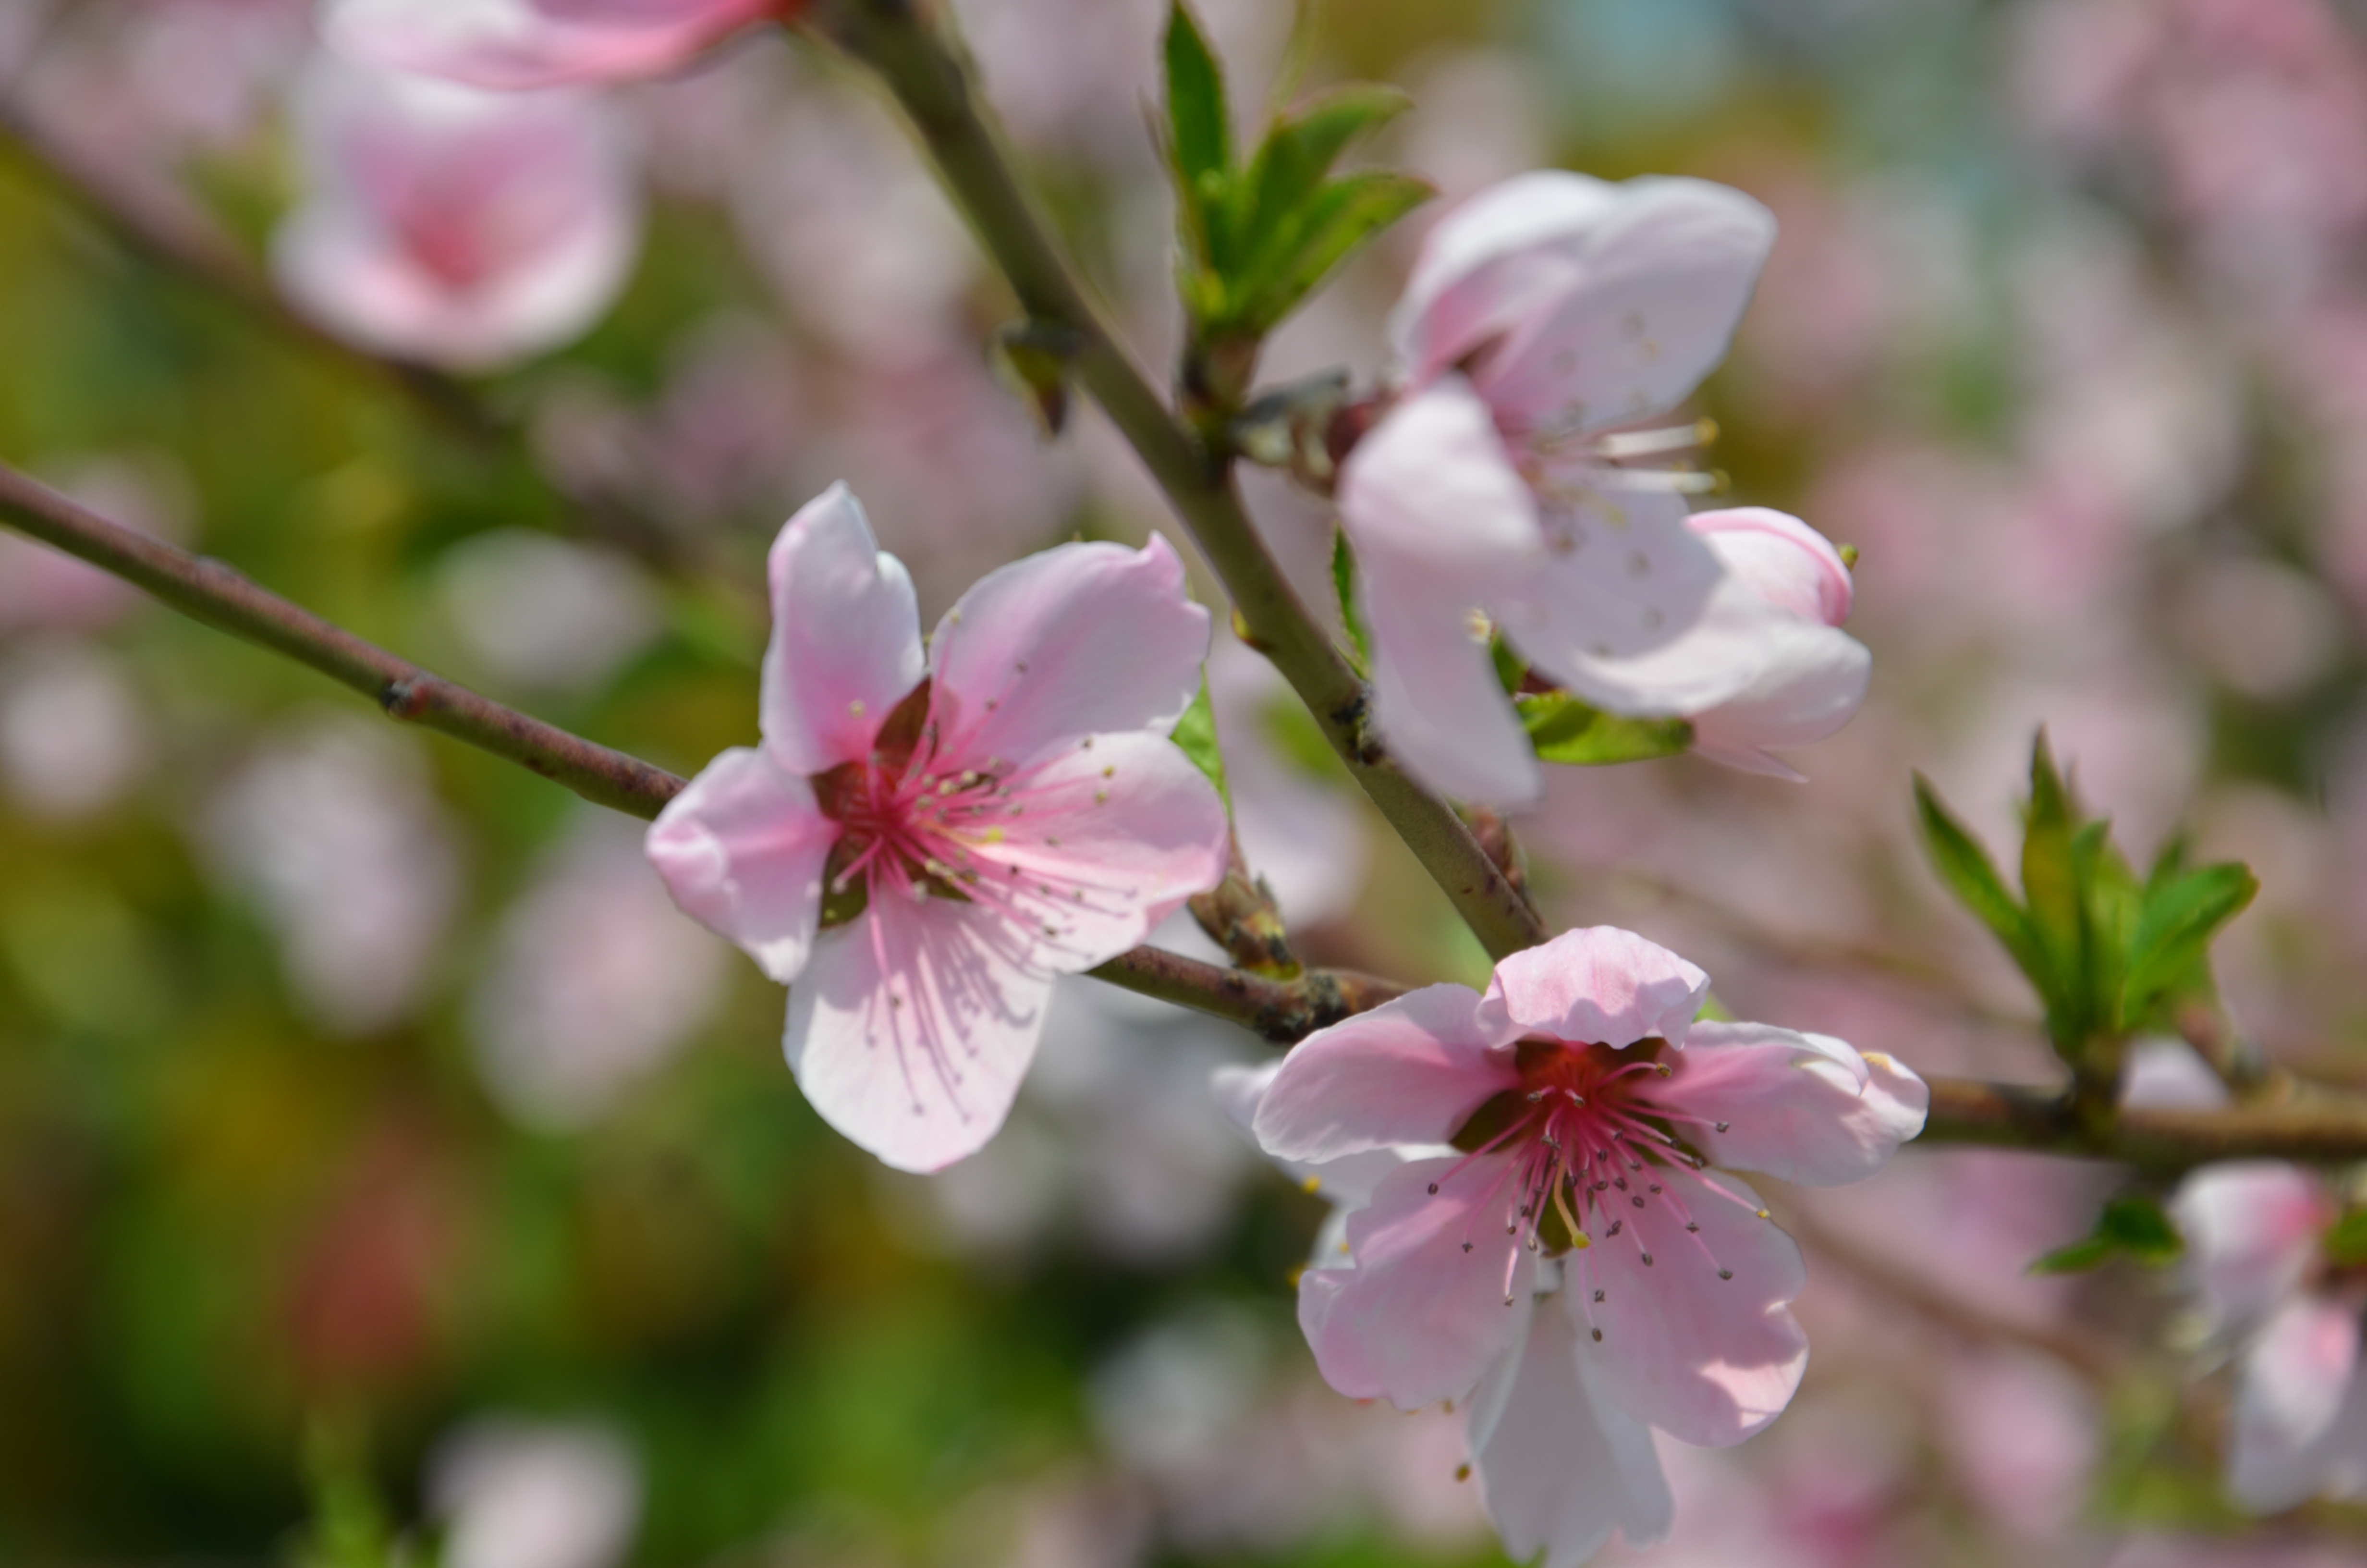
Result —
<instances>
[{"instance_id":1,"label":"leftmost petal of the open blossom left of centre","mask_svg":"<svg viewBox=\"0 0 2367 1568\"><path fill-rule=\"evenodd\" d=\"M838 824L812 786L734 746L649 824L649 862L682 912L739 943L783 985L805 969L821 917L821 867Z\"/></svg>"}]
</instances>

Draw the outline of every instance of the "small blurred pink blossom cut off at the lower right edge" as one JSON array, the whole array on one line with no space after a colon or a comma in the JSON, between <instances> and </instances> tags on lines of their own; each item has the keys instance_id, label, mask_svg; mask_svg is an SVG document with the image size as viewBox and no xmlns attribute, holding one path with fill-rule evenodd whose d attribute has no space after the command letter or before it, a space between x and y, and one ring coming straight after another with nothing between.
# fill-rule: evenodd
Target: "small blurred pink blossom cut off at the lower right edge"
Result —
<instances>
[{"instance_id":1,"label":"small blurred pink blossom cut off at the lower right edge","mask_svg":"<svg viewBox=\"0 0 2367 1568\"><path fill-rule=\"evenodd\" d=\"M2367 1281L2320 1251L2341 1203L2298 1165L2230 1161L2189 1175L2171 1213L2206 1326L2237 1348L2227 1492L2260 1514L2367 1492Z\"/></svg>"}]
</instances>

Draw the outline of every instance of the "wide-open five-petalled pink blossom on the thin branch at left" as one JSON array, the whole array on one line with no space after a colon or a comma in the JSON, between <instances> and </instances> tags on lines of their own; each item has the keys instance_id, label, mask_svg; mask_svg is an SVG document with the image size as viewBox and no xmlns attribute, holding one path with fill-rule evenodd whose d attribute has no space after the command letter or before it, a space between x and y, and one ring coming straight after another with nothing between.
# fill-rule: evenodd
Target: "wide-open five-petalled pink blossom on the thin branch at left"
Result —
<instances>
[{"instance_id":1,"label":"wide-open five-petalled pink blossom on the thin branch at left","mask_svg":"<svg viewBox=\"0 0 2367 1568\"><path fill-rule=\"evenodd\" d=\"M1224 805L1167 739L1207 611L1160 538L1060 545L982 578L923 654L845 486L781 528L772 604L765 744L691 779L649 857L795 981L788 1066L824 1120L937 1170L1004 1123L1053 976L1224 874Z\"/></svg>"}]
</instances>

